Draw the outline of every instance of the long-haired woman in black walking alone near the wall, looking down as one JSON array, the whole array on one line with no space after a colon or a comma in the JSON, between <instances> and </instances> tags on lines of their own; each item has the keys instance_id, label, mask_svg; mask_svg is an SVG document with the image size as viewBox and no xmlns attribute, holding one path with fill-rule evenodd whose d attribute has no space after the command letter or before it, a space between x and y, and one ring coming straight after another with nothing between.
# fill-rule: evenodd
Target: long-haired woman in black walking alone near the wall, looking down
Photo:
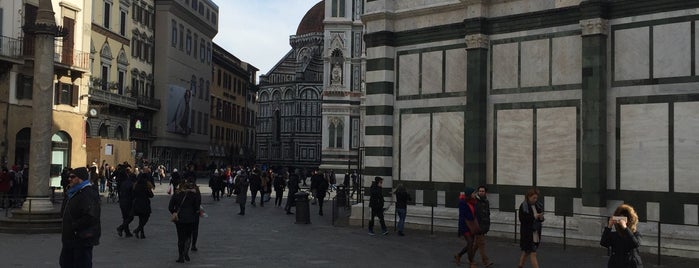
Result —
<instances>
[{"instance_id":1,"label":"long-haired woman in black walking alone near the wall, looking down","mask_svg":"<svg viewBox=\"0 0 699 268\"><path fill-rule=\"evenodd\" d=\"M522 254L519 256L518 267L524 267L527 258L530 258L532 267L539 267L536 250L541 241L541 223L543 221L544 205L539 202L539 190L531 188L519 206L519 247L522 249Z\"/></svg>"}]
</instances>

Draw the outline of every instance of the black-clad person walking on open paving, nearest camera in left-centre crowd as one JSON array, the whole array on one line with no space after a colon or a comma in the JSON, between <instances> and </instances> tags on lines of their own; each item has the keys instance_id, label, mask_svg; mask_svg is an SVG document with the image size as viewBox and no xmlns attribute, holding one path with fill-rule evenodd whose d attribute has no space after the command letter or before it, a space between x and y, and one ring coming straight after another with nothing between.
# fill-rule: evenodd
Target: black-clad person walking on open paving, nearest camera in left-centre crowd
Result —
<instances>
[{"instance_id":1,"label":"black-clad person walking on open paving, nearest camera in left-centre crowd","mask_svg":"<svg viewBox=\"0 0 699 268\"><path fill-rule=\"evenodd\" d=\"M177 229L177 254L176 262L190 261L189 247L192 243L192 230L194 220L199 217L199 203L194 183L181 183L179 189L170 198L168 210L173 214L173 221ZM176 216L175 216L176 215Z\"/></svg>"}]
</instances>

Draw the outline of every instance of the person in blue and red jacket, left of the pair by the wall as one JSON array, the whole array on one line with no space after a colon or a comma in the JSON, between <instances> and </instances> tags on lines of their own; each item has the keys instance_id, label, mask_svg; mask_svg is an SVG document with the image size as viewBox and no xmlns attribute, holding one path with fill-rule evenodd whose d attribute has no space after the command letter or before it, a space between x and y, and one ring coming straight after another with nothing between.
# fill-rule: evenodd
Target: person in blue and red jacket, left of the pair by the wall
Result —
<instances>
[{"instance_id":1,"label":"person in blue and red jacket, left of the pair by the wall","mask_svg":"<svg viewBox=\"0 0 699 268\"><path fill-rule=\"evenodd\" d=\"M476 216L476 199L473 197L475 190L466 187L463 195L459 196L459 236L466 239L466 246L454 255L456 265L461 264L461 257L468 256L469 266L476 267L473 257L476 255L476 245L474 243L475 234L479 232L478 219Z\"/></svg>"}]
</instances>

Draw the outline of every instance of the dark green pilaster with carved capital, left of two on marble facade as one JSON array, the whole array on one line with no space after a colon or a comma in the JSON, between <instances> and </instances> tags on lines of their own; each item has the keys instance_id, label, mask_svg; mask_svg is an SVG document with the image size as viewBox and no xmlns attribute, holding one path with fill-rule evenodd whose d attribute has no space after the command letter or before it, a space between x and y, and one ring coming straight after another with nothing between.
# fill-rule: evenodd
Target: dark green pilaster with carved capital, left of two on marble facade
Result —
<instances>
[{"instance_id":1,"label":"dark green pilaster with carved capital, left of two on marble facade","mask_svg":"<svg viewBox=\"0 0 699 268\"><path fill-rule=\"evenodd\" d=\"M481 33L486 21L465 21L466 113L464 120L464 183L486 183L486 129L488 105L488 36ZM473 31L475 30L475 31Z\"/></svg>"}]
</instances>

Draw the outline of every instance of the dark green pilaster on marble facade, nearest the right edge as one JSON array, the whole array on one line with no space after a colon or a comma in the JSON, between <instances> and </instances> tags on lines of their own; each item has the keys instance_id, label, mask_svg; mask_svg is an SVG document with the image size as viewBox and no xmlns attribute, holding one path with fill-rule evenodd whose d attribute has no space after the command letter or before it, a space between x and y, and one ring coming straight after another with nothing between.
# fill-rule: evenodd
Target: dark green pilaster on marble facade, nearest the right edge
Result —
<instances>
[{"instance_id":1,"label":"dark green pilaster on marble facade, nearest the right edge","mask_svg":"<svg viewBox=\"0 0 699 268\"><path fill-rule=\"evenodd\" d=\"M607 35L602 1L585 1L582 11L582 203L605 207L607 190Z\"/></svg>"}]
</instances>

